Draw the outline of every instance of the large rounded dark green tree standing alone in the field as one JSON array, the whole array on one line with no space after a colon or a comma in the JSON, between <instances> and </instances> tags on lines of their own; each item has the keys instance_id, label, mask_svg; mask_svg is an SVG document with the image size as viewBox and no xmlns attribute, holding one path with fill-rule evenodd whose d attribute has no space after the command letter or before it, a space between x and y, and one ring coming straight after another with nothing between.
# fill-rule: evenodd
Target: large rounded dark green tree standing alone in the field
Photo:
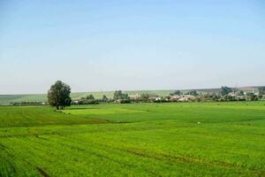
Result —
<instances>
[{"instance_id":1,"label":"large rounded dark green tree standing alone in the field","mask_svg":"<svg viewBox=\"0 0 265 177\"><path fill-rule=\"evenodd\" d=\"M71 105L71 88L63 81L57 81L48 91L49 105L57 107L57 110L64 109Z\"/></svg>"}]
</instances>

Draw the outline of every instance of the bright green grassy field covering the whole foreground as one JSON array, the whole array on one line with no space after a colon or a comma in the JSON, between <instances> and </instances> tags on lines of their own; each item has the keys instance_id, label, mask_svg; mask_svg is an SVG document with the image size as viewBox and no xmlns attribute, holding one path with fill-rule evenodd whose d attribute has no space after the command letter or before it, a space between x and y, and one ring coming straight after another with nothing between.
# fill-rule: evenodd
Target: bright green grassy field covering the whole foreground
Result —
<instances>
[{"instance_id":1,"label":"bright green grassy field covering the whole foreground","mask_svg":"<svg viewBox=\"0 0 265 177\"><path fill-rule=\"evenodd\" d=\"M265 102L0 107L0 176L265 176Z\"/></svg>"}]
</instances>

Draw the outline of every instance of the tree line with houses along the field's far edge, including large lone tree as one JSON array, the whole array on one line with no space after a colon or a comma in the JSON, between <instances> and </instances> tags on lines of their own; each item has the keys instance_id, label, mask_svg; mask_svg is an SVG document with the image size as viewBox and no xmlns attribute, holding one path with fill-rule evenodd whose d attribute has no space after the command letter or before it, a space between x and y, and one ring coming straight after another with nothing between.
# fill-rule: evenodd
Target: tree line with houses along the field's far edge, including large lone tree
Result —
<instances>
[{"instance_id":1,"label":"tree line with houses along the field's far edge, including large lone tree","mask_svg":"<svg viewBox=\"0 0 265 177\"><path fill-rule=\"evenodd\" d=\"M140 97L134 98L133 100L122 92L122 90L117 90L113 94L113 98L108 98L107 96L102 96L101 99L95 99L95 96L88 95L86 97L81 97L77 102L73 101L70 97L71 88L62 81L57 81L52 85L48 92L49 105L55 106L58 109L64 109L65 106L71 104L99 104L99 103L110 103L115 102L119 104L127 104L134 102L171 102L176 101L172 99L172 96L182 96L182 98L188 97L187 101L256 101L265 95L265 87L259 88L259 95L252 92L244 93L244 91L239 89L231 89L229 87L223 86L219 93L204 93L199 94L197 90L190 90L186 93L176 90L170 93L170 96L153 96L151 97L148 93L143 93ZM178 101L178 100L177 100Z\"/></svg>"}]
</instances>

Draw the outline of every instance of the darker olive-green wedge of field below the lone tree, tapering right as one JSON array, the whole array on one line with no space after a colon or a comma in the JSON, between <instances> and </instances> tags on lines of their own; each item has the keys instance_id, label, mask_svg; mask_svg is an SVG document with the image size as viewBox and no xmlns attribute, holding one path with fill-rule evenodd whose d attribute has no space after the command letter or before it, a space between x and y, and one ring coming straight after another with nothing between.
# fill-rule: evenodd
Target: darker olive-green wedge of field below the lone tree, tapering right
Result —
<instances>
[{"instance_id":1,"label":"darker olive-green wedge of field below the lone tree, tapering right","mask_svg":"<svg viewBox=\"0 0 265 177\"><path fill-rule=\"evenodd\" d=\"M102 119L56 112L49 106L0 106L0 127L34 127L46 125L82 125L107 123Z\"/></svg>"}]
</instances>

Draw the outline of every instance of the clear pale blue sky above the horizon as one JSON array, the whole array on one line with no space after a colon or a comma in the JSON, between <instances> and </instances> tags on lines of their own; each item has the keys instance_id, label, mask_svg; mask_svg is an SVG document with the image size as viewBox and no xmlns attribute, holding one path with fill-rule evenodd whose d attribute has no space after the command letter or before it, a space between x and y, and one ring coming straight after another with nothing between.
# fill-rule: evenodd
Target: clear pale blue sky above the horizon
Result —
<instances>
[{"instance_id":1,"label":"clear pale blue sky above the horizon","mask_svg":"<svg viewBox=\"0 0 265 177\"><path fill-rule=\"evenodd\" d=\"M265 85L263 0L0 0L0 94Z\"/></svg>"}]
</instances>

